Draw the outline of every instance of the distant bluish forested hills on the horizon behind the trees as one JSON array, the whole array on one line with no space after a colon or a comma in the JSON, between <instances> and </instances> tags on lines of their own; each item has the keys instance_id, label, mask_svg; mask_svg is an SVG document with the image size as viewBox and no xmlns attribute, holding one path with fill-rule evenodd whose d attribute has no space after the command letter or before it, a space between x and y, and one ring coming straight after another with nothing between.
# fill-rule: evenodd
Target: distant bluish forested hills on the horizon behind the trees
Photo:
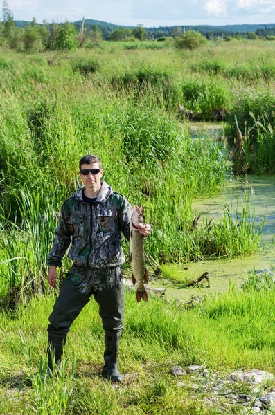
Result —
<instances>
[{"instance_id":1,"label":"distant bluish forested hills on the horizon behind the trees","mask_svg":"<svg viewBox=\"0 0 275 415\"><path fill-rule=\"evenodd\" d=\"M18 27L26 26L30 22L17 20L15 24ZM73 25L76 26L78 30L80 30L82 25L82 20L73 21ZM107 23L106 21L94 20L94 19L85 19L85 28L91 30L92 26L97 25L103 33L103 37L106 40L109 40L112 32L118 28L133 28L134 26L122 26L113 23ZM230 36L230 35L242 35L248 32L255 32L258 35L268 36L274 35L275 33L275 24L233 24L233 25L224 25L224 26L210 26L210 25L199 25L199 26L189 26L189 25L182 25L177 26L180 27L181 30L197 30L198 32L202 33L202 35L206 36L208 39L211 37L217 36ZM148 33L149 38L157 39L163 36L171 36L172 30L175 26L159 26L159 28L146 28L146 32Z\"/></svg>"}]
</instances>

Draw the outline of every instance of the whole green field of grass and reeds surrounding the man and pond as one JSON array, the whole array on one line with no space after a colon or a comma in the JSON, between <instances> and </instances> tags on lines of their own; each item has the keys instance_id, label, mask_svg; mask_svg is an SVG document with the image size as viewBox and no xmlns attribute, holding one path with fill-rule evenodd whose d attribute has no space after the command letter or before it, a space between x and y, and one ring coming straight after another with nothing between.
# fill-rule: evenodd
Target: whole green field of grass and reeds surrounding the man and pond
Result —
<instances>
[{"instance_id":1,"label":"whole green field of grass and reeds surrounding the man and pond","mask_svg":"<svg viewBox=\"0 0 275 415\"><path fill-rule=\"evenodd\" d=\"M153 228L145 250L163 270L259 249L261 228L247 198L238 214L225 204L219 220L197 227L192 202L238 174L275 173L274 42L209 42L193 51L135 44L58 54L1 50L1 414L218 414L218 403L190 398L189 378L178 387L172 365L199 363L221 374L274 368L274 275L260 282L254 275L242 290L231 286L190 309L154 297L136 304L127 293L125 380L117 388L99 376L103 333L91 302L71 329L57 378L26 385L44 364L54 302L46 257L62 202L80 184L84 154L100 156L105 181L145 205ZM222 118L221 140L190 138L183 108L197 121ZM238 157L231 152L235 115L244 136ZM69 266L66 259L62 270ZM242 413L238 405L226 410Z\"/></svg>"}]
</instances>

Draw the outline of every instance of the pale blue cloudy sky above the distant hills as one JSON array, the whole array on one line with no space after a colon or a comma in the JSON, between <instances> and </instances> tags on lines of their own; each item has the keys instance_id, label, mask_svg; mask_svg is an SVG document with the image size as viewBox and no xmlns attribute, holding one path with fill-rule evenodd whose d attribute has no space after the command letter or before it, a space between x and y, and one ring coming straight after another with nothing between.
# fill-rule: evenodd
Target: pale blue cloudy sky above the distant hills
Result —
<instances>
[{"instance_id":1,"label":"pale blue cloudy sky above the distant hills","mask_svg":"<svg viewBox=\"0 0 275 415\"><path fill-rule=\"evenodd\" d=\"M275 23L275 0L7 0L15 20L145 27Z\"/></svg>"}]
</instances>

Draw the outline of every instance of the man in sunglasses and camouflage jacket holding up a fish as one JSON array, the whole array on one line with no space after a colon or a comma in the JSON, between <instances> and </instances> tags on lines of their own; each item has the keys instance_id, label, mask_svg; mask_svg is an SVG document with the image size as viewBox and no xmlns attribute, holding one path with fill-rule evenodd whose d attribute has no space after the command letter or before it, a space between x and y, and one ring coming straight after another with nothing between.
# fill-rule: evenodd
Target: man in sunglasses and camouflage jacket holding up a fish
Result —
<instances>
[{"instance_id":1,"label":"man in sunglasses and camouflage jacket holding up a fish","mask_svg":"<svg viewBox=\"0 0 275 415\"><path fill-rule=\"evenodd\" d=\"M105 181L100 158L84 156L79 163L83 185L62 205L60 224L48 255L48 283L55 288L57 266L71 244L68 257L73 261L49 317L48 369L53 371L51 351L58 365L71 323L94 295L105 330L102 374L121 382L117 370L118 344L123 330L124 286L121 264L121 232L130 239L132 208L125 197L113 192ZM139 230L147 237L150 225Z\"/></svg>"}]
</instances>

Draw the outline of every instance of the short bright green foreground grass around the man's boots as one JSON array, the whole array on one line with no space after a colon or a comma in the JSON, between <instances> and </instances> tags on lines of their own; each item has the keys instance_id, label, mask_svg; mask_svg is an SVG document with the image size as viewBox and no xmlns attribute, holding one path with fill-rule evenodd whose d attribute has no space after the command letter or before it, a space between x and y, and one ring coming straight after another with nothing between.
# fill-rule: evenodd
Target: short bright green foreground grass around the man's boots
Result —
<instances>
[{"instance_id":1,"label":"short bright green foreground grass around the man's boots","mask_svg":"<svg viewBox=\"0 0 275 415\"><path fill-rule=\"evenodd\" d=\"M100 378L103 331L94 301L71 328L57 378L34 377L29 386L21 384L21 392L24 376L44 365L46 321L54 297L33 299L16 312L2 313L2 413L162 414L165 407L168 414L215 414L218 405L207 407L202 392L190 399L188 376L173 378L169 369L199 363L223 376L239 367L272 370L275 294L268 292L237 293L231 288L188 311L177 302L152 297L137 304L134 293L127 293L119 360L125 380L117 388ZM185 386L179 387L179 381Z\"/></svg>"}]
</instances>

